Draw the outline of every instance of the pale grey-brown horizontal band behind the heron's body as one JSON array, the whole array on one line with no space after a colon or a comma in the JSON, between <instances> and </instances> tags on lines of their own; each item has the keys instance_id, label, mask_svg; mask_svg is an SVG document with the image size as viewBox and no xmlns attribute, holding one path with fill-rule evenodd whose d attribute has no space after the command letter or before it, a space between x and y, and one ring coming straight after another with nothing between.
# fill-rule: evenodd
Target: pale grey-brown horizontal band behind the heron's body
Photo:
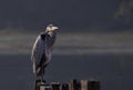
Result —
<instances>
[{"instance_id":1,"label":"pale grey-brown horizontal band behind the heron's body","mask_svg":"<svg viewBox=\"0 0 133 90\"><path fill-rule=\"evenodd\" d=\"M0 54L29 54L38 33L0 33ZM133 33L59 33L54 54L133 53Z\"/></svg>"}]
</instances>

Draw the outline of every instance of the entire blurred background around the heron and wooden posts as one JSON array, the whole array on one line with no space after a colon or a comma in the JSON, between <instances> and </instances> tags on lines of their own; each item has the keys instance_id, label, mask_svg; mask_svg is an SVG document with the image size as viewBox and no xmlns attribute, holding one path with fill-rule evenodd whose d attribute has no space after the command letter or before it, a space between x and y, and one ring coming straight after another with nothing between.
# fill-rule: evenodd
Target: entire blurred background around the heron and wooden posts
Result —
<instances>
[{"instance_id":1,"label":"entire blurred background around the heron and wooden posts","mask_svg":"<svg viewBox=\"0 0 133 90\"><path fill-rule=\"evenodd\" d=\"M33 90L31 50L49 23L60 31L48 83L133 90L133 0L0 0L0 90Z\"/></svg>"}]
</instances>

